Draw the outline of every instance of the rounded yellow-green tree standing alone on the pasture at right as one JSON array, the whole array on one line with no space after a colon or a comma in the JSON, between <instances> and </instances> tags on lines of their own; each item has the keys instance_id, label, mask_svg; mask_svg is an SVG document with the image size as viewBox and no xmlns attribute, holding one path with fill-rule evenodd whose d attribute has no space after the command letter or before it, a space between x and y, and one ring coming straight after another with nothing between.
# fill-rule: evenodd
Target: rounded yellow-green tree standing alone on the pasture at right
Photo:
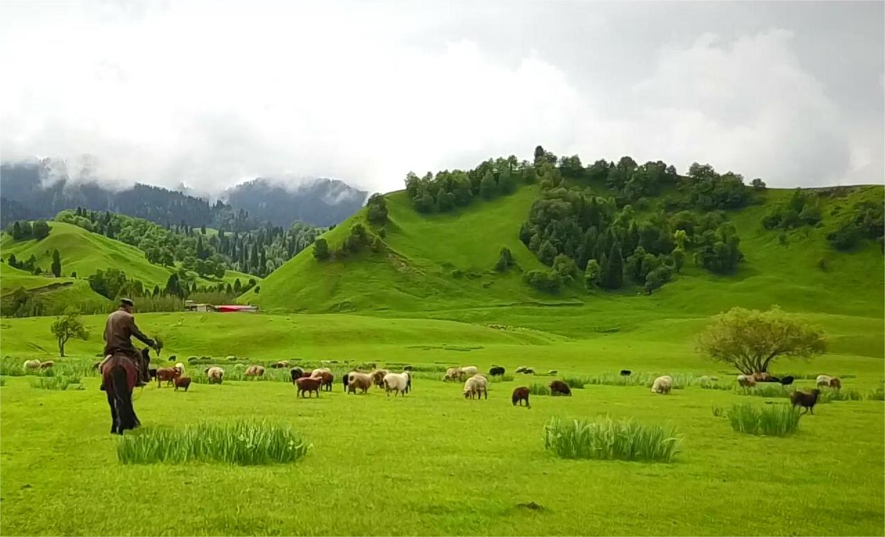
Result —
<instances>
[{"instance_id":1,"label":"rounded yellow-green tree standing alone on the pasture at right","mask_svg":"<svg viewBox=\"0 0 885 537\"><path fill-rule=\"evenodd\" d=\"M827 350L818 326L788 315L776 306L769 311L732 308L713 318L697 336L697 350L745 374L766 372L778 357L810 358Z\"/></svg>"}]
</instances>

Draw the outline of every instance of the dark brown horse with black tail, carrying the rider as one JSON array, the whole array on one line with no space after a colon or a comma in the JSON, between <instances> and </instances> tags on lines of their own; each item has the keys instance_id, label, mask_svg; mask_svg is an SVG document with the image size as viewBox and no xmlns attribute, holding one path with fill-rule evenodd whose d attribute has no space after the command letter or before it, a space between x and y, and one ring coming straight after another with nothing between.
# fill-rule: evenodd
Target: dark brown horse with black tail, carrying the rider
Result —
<instances>
[{"instance_id":1,"label":"dark brown horse with black tail, carrying the rider","mask_svg":"<svg viewBox=\"0 0 885 537\"><path fill-rule=\"evenodd\" d=\"M104 363L102 380L111 407L112 434L122 434L126 429L142 425L132 406L132 390L139 378L139 369L147 368L149 363L150 349L142 349L137 359L118 351Z\"/></svg>"}]
</instances>

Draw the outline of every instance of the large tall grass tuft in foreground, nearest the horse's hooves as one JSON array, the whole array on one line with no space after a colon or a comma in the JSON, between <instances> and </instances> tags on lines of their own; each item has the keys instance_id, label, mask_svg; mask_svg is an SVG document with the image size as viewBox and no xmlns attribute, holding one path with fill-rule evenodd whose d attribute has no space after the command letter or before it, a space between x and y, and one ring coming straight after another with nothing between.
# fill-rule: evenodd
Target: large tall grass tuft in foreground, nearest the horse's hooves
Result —
<instances>
[{"instance_id":1,"label":"large tall grass tuft in foreground, nearest the horse's hooves","mask_svg":"<svg viewBox=\"0 0 885 537\"><path fill-rule=\"evenodd\" d=\"M123 464L279 464L295 462L311 447L289 426L239 420L136 430L119 440L117 458Z\"/></svg>"}]
</instances>

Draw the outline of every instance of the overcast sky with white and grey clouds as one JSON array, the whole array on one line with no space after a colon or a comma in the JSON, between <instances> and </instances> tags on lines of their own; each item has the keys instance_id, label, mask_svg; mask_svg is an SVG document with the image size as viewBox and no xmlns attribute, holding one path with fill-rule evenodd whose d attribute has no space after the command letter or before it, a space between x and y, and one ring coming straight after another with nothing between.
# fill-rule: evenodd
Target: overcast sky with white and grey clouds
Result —
<instances>
[{"instance_id":1,"label":"overcast sky with white and grey clouds","mask_svg":"<svg viewBox=\"0 0 885 537\"><path fill-rule=\"evenodd\" d=\"M4 0L0 158L206 192L387 191L540 143L881 183L883 6Z\"/></svg>"}]
</instances>

